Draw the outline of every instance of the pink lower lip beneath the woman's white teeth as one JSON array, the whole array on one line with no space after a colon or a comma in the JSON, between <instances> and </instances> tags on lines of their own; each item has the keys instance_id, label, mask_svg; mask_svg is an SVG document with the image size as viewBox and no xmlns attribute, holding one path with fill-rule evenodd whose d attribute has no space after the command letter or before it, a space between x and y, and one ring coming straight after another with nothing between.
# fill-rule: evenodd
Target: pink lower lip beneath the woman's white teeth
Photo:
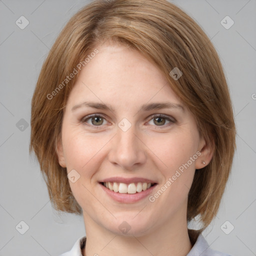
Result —
<instances>
[{"instance_id":1,"label":"pink lower lip beneath the woman's white teeth","mask_svg":"<svg viewBox=\"0 0 256 256\"><path fill-rule=\"evenodd\" d=\"M146 190L142 190L141 192L136 192L134 194L128 194L128 193L119 193L119 192L114 192L111 191L110 189L106 188L104 185L100 184L99 185L102 187L102 189L114 200L118 202L137 202L143 198L145 198L147 195L149 195L152 190L155 188L156 184L153 186L150 186Z\"/></svg>"}]
</instances>

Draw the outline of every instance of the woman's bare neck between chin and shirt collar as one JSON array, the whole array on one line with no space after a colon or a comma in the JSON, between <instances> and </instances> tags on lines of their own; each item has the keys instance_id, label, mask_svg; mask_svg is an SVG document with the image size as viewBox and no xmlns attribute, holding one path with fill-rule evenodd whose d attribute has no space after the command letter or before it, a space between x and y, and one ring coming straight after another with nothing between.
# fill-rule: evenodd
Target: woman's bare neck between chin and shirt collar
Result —
<instances>
[{"instance_id":1,"label":"woman's bare neck between chin and shirt collar","mask_svg":"<svg viewBox=\"0 0 256 256\"><path fill-rule=\"evenodd\" d=\"M123 235L110 232L84 214L86 245L83 256L185 256L191 250L186 221L171 218L162 226L150 228L144 235Z\"/></svg>"}]
</instances>

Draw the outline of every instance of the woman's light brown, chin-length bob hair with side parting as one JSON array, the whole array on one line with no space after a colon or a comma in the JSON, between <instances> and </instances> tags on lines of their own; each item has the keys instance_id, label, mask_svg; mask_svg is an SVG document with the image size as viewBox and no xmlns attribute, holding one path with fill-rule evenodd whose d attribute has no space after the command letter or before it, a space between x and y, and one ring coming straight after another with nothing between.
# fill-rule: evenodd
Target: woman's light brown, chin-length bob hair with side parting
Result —
<instances>
[{"instance_id":1,"label":"woman's light brown, chin-length bob hair with side parting","mask_svg":"<svg viewBox=\"0 0 256 256\"><path fill-rule=\"evenodd\" d=\"M82 213L67 170L58 163L56 142L76 74L105 41L136 49L159 67L196 119L200 136L212 146L211 161L195 170L188 193L187 223L198 215L202 231L217 213L231 170L233 110L210 39L190 16L167 0L94 0L70 18L52 45L31 101L29 152L33 150L39 161L54 209ZM179 79L169 74L174 67L182 72Z\"/></svg>"}]
</instances>

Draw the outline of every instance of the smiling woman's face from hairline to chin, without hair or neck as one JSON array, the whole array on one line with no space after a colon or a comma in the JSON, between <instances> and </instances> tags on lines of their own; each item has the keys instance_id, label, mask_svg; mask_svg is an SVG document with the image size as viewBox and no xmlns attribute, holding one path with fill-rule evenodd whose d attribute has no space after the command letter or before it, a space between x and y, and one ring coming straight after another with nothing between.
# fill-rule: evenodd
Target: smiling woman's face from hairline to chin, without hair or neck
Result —
<instances>
[{"instance_id":1,"label":"smiling woman's face from hairline to chin, without hair or neck","mask_svg":"<svg viewBox=\"0 0 256 256\"><path fill-rule=\"evenodd\" d=\"M194 171L206 162L195 119L139 52L97 49L69 94L57 147L85 227L142 235L186 223Z\"/></svg>"}]
</instances>

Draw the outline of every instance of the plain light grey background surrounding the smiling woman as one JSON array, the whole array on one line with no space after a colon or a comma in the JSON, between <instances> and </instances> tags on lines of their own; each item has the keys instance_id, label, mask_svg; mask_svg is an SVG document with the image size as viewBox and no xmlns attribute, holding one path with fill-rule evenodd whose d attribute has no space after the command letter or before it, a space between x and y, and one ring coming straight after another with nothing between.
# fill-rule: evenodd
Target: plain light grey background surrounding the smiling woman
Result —
<instances>
[{"instance_id":1,"label":"plain light grey background surrounding the smiling woman","mask_svg":"<svg viewBox=\"0 0 256 256\"><path fill-rule=\"evenodd\" d=\"M58 215L52 209L38 163L28 154L30 125L25 124L30 122L32 93L49 48L87 2L0 0L1 256L59 255L85 234L82 217ZM214 249L234 256L256 255L256 0L172 2L201 25L216 47L237 125L231 176L217 216L203 235ZM24 29L15 24L21 15L29 21ZM234 21L229 29L220 23L226 15ZM15 228L21 220L29 226L24 234ZM229 234L220 228L226 220L234 226ZM231 225L224 227L227 232Z\"/></svg>"}]
</instances>

